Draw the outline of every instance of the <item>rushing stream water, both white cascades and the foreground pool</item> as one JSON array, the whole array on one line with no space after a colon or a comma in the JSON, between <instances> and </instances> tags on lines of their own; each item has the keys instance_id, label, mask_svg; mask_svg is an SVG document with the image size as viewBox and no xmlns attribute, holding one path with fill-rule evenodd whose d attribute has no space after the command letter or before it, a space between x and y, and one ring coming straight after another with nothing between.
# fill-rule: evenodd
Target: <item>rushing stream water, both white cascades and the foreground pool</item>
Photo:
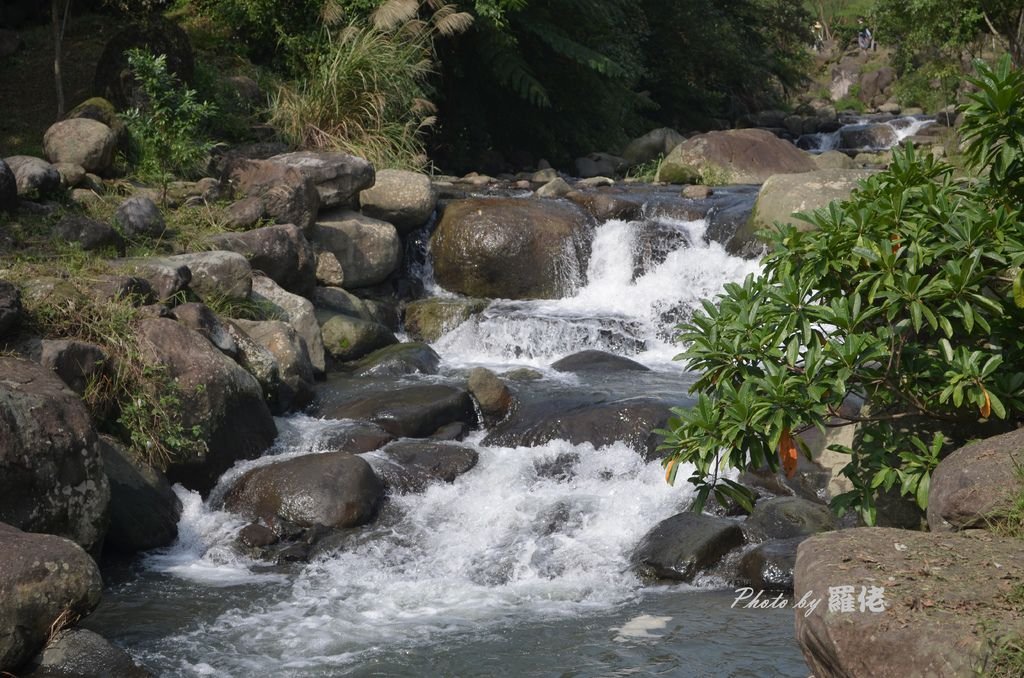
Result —
<instances>
[{"instance_id":1,"label":"rushing stream water, both white cascades and the foreground pool","mask_svg":"<svg viewBox=\"0 0 1024 678\"><path fill-rule=\"evenodd\" d=\"M431 379L530 366L542 384L587 387L547 366L602 348L653 370L602 388L682 394L671 326L756 269L708 242L702 220L609 221L575 296L494 302L436 342L442 374ZM219 498L253 466L321 452L331 423L280 419L267 456L228 471L207 502L178 489L178 542L109 567L86 626L161 676L807 675L792 610L732 609L731 588L713 577L651 586L634 576L640 538L691 497L621 442L494 448L476 432L473 470L391 498L310 562L242 555L233 540L246 521L218 510Z\"/></svg>"}]
</instances>

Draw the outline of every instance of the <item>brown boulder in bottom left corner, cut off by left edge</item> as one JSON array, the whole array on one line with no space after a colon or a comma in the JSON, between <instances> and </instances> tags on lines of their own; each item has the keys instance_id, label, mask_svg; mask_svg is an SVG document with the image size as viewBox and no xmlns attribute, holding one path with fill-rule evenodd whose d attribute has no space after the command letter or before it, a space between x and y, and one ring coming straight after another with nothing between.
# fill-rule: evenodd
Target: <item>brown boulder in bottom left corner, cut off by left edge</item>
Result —
<instances>
[{"instance_id":1,"label":"brown boulder in bottom left corner, cut off by left edge","mask_svg":"<svg viewBox=\"0 0 1024 678\"><path fill-rule=\"evenodd\" d=\"M82 547L0 522L0 671L17 671L42 649L61 617L95 609L102 588Z\"/></svg>"}]
</instances>

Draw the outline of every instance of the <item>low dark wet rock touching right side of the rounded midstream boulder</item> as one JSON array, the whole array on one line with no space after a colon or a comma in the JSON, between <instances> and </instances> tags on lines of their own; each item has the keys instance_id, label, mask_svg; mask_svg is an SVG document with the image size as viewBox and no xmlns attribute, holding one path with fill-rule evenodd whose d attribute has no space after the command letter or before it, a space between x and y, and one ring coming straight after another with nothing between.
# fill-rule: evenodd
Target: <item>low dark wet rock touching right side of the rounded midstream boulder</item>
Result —
<instances>
[{"instance_id":1,"label":"low dark wet rock touching right side of the rounded midstream boulder","mask_svg":"<svg viewBox=\"0 0 1024 678\"><path fill-rule=\"evenodd\" d=\"M388 492L420 493L433 482L453 482L478 459L475 450L455 442L399 440L367 455Z\"/></svg>"}]
</instances>

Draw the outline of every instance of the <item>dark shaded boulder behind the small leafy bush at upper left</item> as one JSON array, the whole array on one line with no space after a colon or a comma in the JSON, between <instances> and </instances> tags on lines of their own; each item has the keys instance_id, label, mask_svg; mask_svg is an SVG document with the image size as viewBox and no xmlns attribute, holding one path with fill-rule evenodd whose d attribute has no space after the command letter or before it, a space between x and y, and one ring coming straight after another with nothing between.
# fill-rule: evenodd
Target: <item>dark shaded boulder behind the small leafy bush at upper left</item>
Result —
<instances>
[{"instance_id":1,"label":"dark shaded boulder behind the small leafy bush at upper left","mask_svg":"<svg viewBox=\"0 0 1024 678\"><path fill-rule=\"evenodd\" d=\"M133 48L151 54L164 54L168 73L185 84L191 84L196 57L188 34L174 22L150 12L145 20L129 24L118 31L103 47L96 63L92 89L119 110L145 103L128 66L127 52Z\"/></svg>"}]
</instances>

